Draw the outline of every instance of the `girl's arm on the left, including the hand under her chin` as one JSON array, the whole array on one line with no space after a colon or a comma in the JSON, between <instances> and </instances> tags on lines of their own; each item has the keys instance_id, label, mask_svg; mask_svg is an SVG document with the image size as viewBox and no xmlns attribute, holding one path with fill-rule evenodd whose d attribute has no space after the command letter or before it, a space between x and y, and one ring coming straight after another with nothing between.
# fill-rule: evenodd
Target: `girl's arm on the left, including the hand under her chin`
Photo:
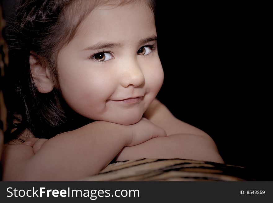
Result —
<instances>
[{"instance_id":1,"label":"girl's arm on the left, including the hand under her chin","mask_svg":"<svg viewBox=\"0 0 273 203\"><path fill-rule=\"evenodd\" d=\"M78 180L98 173L124 146L157 136L166 133L147 119L129 126L95 121L56 135L35 154L31 144L9 144L3 152L3 181Z\"/></svg>"}]
</instances>

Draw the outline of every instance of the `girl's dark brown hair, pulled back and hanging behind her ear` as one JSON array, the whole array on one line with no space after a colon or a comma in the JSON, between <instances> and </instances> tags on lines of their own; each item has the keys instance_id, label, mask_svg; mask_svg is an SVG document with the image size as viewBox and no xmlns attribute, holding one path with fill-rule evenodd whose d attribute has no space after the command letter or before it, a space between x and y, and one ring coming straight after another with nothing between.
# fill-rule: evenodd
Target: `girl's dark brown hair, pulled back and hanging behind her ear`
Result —
<instances>
[{"instance_id":1,"label":"girl's dark brown hair, pulled back and hanging behind her ear","mask_svg":"<svg viewBox=\"0 0 273 203\"><path fill-rule=\"evenodd\" d=\"M79 24L97 6L120 6L135 0L25 0L20 1L14 21L7 26L9 68L6 98L9 127L5 142L24 129L35 137L51 138L92 122L75 113L61 96L56 59L62 47L74 37ZM144 1L154 13L154 0ZM29 67L29 53L35 52L49 69L54 89L38 92ZM5 95L6 96L6 95ZM13 125L14 119L20 124ZM17 128L11 133L11 129Z\"/></svg>"}]
</instances>

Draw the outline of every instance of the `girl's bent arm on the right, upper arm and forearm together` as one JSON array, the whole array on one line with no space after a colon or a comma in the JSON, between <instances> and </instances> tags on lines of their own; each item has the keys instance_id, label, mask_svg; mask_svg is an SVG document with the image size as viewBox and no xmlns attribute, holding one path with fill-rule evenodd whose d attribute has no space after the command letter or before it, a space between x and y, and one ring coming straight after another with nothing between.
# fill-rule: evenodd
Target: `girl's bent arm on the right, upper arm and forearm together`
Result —
<instances>
[{"instance_id":1,"label":"girl's bent arm on the right, upper arm and forearm together","mask_svg":"<svg viewBox=\"0 0 273 203\"><path fill-rule=\"evenodd\" d=\"M213 139L204 131L175 118L157 99L144 116L163 128L167 137L148 140L132 147L125 147L117 161L137 158L181 158L223 163Z\"/></svg>"}]
</instances>

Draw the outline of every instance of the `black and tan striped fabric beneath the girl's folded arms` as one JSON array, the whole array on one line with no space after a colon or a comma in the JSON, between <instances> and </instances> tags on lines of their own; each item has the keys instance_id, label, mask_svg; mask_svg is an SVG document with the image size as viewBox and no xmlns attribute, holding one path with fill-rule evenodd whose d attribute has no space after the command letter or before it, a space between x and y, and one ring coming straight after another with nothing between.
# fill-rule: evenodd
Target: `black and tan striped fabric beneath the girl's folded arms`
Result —
<instances>
[{"instance_id":1,"label":"black and tan striped fabric beneath the girl's folded arms","mask_svg":"<svg viewBox=\"0 0 273 203\"><path fill-rule=\"evenodd\" d=\"M248 181L243 167L184 159L117 161L81 181Z\"/></svg>"}]
</instances>

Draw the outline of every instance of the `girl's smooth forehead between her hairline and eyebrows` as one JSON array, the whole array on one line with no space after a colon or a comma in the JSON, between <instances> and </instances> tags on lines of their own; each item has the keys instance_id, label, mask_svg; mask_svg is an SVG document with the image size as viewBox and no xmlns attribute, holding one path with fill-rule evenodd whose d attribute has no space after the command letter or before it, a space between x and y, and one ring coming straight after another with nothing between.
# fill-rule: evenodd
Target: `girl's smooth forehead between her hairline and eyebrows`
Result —
<instances>
[{"instance_id":1,"label":"girl's smooth forehead between her hairline and eyebrows","mask_svg":"<svg viewBox=\"0 0 273 203\"><path fill-rule=\"evenodd\" d=\"M119 6L105 4L95 7L78 26L74 38L129 40L152 34L156 34L154 13L147 2L135 1Z\"/></svg>"}]
</instances>

